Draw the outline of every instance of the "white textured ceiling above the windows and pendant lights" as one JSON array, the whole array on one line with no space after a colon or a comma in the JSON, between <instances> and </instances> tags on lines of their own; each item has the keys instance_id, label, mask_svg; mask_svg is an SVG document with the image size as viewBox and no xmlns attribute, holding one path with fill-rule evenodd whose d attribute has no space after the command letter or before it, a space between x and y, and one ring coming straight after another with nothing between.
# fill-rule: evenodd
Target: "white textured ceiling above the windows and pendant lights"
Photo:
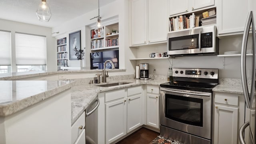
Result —
<instances>
[{"instance_id":1,"label":"white textured ceiling above the windows and pendant lights","mask_svg":"<svg viewBox=\"0 0 256 144\"><path fill-rule=\"evenodd\" d=\"M100 0L100 7L115 0ZM0 0L0 19L13 20L39 26L55 27L98 8L98 0L46 0L52 17L41 22L36 10L41 0Z\"/></svg>"}]
</instances>

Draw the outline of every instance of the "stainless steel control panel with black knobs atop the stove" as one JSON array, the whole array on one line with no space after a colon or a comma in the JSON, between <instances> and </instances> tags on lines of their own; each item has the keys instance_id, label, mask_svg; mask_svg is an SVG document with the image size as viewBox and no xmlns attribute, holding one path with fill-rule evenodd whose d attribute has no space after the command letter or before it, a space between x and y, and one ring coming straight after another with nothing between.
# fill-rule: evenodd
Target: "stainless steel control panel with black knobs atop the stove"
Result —
<instances>
[{"instance_id":1,"label":"stainless steel control panel with black knobs atop the stove","mask_svg":"<svg viewBox=\"0 0 256 144\"><path fill-rule=\"evenodd\" d=\"M172 76L187 78L212 78L218 79L218 69L206 68L173 68Z\"/></svg>"}]
</instances>

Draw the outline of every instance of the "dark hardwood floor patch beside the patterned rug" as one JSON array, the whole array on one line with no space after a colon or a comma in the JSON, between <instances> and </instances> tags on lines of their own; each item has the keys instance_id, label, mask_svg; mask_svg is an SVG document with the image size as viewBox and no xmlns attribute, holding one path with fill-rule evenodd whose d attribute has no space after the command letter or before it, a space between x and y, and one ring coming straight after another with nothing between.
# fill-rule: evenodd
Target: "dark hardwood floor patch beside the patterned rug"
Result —
<instances>
[{"instance_id":1,"label":"dark hardwood floor patch beside the patterned rug","mask_svg":"<svg viewBox=\"0 0 256 144\"><path fill-rule=\"evenodd\" d=\"M149 144L160 134L147 128L140 128L116 144Z\"/></svg>"}]
</instances>

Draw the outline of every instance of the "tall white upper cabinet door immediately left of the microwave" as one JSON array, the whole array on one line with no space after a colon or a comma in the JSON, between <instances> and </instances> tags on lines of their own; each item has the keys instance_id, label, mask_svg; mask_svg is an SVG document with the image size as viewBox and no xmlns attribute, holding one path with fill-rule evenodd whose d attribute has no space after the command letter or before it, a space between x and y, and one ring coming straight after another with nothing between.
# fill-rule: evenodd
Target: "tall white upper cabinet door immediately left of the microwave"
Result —
<instances>
[{"instance_id":1,"label":"tall white upper cabinet door immediately left of the microwave","mask_svg":"<svg viewBox=\"0 0 256 144\"><path fill-rule=\"evenodd\" d=\"M167 40L167 0L148 0L148 43Z\"/></svg>"}]
</instances>

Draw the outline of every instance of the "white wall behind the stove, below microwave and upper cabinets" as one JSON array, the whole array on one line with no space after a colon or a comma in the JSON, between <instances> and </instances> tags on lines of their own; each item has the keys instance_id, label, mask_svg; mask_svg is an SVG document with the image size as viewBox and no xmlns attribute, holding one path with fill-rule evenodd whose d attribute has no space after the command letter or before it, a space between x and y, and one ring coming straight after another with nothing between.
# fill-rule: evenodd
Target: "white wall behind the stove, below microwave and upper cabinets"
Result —
<instances>
[{"instance_id":1,"label":"white wall behind the stove, below microwave and upper cabinets","mask_svg":"<svg viewBox=\"0 0 256 144\"><path fill-rule=\"evenodd\" d=\"M220 39L220 54L226 51L241 51L242 36ZM143 46L133 48L137 58L147 58L151 52L166 52L167 44L162 46ZM241 78L240 57L218 57L218 56L186 56L175 57L174 59L152 59L138 60L136 64L149 63L149 73L167 75L171 63L173 68L218 68L219 78Z\"/></svg>"}]
</instances>

